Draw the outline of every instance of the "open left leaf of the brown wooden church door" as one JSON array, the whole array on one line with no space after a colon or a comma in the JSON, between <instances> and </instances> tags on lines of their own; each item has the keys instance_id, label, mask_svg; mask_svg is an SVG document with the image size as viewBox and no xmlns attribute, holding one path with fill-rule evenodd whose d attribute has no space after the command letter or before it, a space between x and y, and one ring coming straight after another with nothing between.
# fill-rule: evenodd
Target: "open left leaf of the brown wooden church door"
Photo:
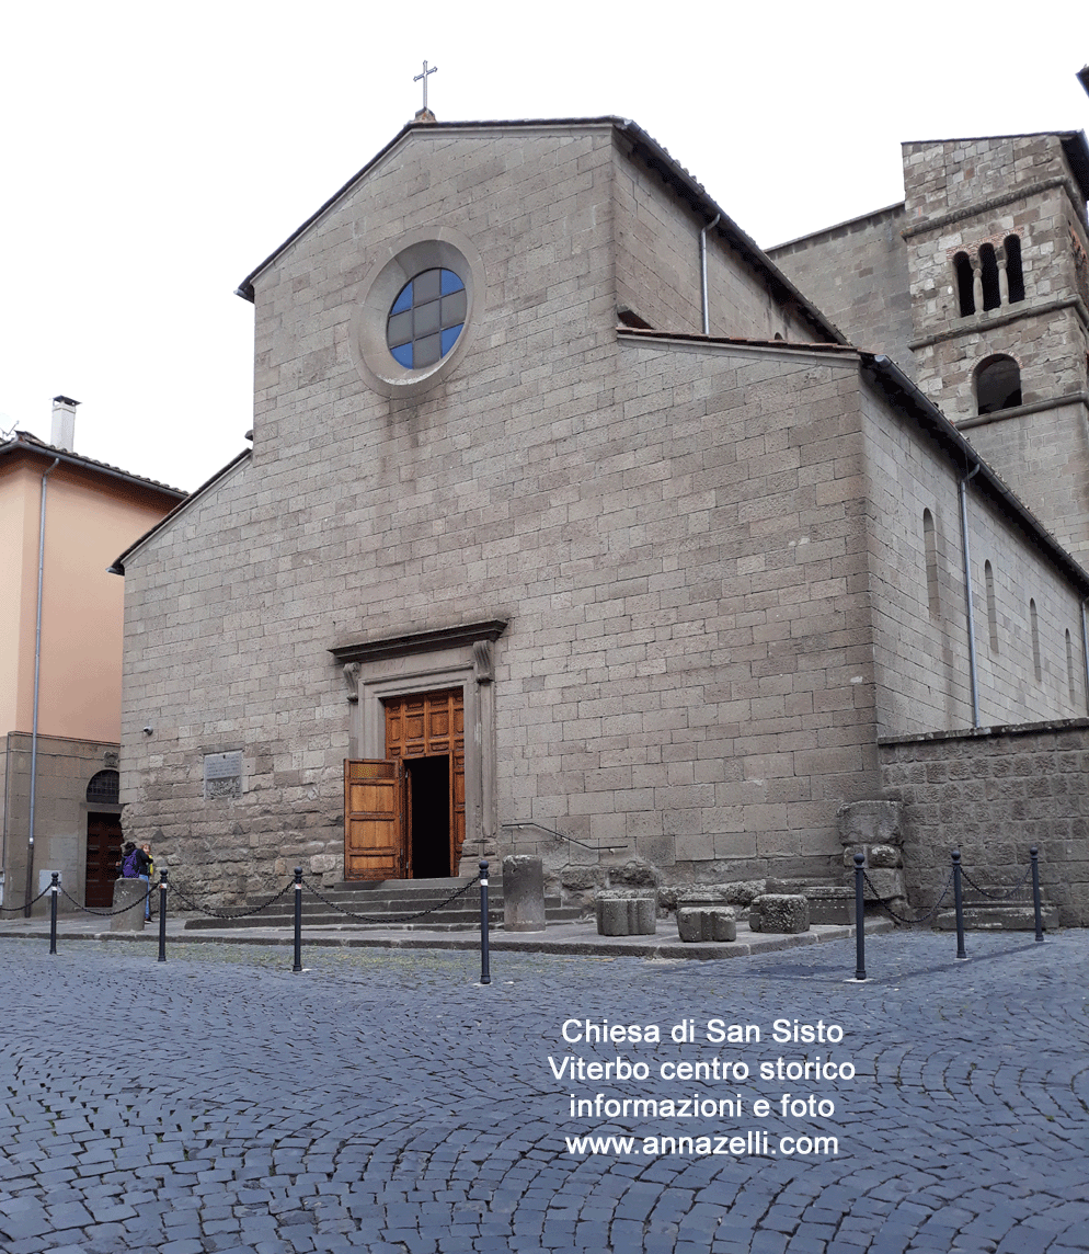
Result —
<instances>
[{"instance_id":1,"label":"open left leaf of the brown wooden church door","mask_svg":"<svg viewBox=\"0 0 1089 1254\"><path fill-rule=\"evenodd\" d=\"M345 761L345 879L405 875L405 766Z\"/></svg>"}]
</instances>

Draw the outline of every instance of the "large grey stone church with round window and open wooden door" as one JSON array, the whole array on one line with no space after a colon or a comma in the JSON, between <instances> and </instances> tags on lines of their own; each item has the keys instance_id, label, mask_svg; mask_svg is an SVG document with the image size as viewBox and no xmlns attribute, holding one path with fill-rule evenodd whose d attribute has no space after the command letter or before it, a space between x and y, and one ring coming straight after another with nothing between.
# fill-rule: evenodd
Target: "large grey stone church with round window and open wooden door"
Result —
<instances>
[{"instance_id":1,"label":"large grey stone church with round window and open wooden door","mask_svg":"<svg viewBox=\"0 0 1089 1254\"><path fill-rule=\"evenodd\" d=\"M1079 547L1084 453L991 469L934 371L1004 315L957 340L888 293L861 335L817 251L778 268L630 122L409 124L239 290L252 451L119 558L129 833L224 902L515 848L571 889L831 879L888 737L1080 726L1089 577L1036 518ZM1038 307L1036 253L1066 356L1045 398L1003 349L1006 444L1084 428L1076 275Z\"/></svg>"}]
</instances>

